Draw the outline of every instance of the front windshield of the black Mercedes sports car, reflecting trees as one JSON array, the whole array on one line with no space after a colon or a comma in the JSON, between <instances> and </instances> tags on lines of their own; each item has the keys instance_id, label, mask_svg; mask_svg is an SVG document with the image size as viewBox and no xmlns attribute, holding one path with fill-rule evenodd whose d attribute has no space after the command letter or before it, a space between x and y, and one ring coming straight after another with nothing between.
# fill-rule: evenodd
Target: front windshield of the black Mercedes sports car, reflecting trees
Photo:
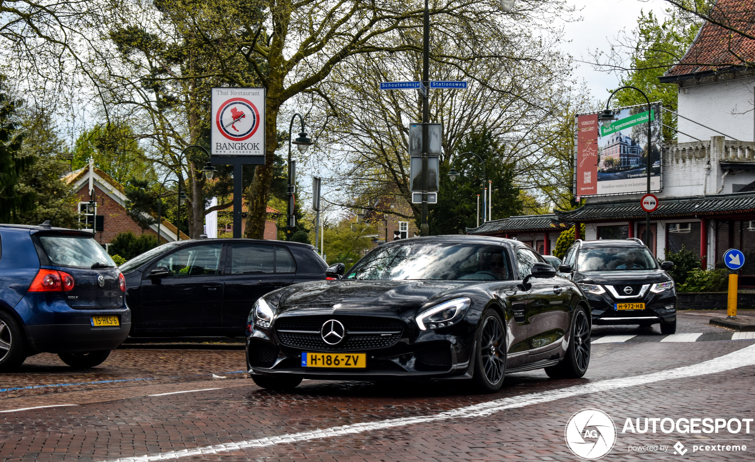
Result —
<instances>
[{"instance_id":1,"label":"front windshield of the black Mercedes sports car, reflecting trees","mask_svg":"<svg viewBox=\"0 0 755 462\"><path fill-rule=\"evenodd\" d=\"M372 250L344 279L509 280L506 249L464 243L405 243Z\"/></svg>"}]
</instances>

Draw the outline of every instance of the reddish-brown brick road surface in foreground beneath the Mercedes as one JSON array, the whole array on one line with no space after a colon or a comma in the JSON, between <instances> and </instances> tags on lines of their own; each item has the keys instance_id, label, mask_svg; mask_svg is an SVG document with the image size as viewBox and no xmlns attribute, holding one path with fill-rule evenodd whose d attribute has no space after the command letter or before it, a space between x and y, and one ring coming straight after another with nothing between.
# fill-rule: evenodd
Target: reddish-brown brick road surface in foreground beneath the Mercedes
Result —
<instances>
[{"instance_id":1,"label":"reddish-brown brick road surface in foreground beneath the Mercedes","mask_svg":"<svg viewBox=\"0 0 755 462\"><path fill-rule=\"evenodd\" d=\"M242 385L248 380L218 381L212 383L223 386L223 390L0 415L0 457L14 462L102 460L428 415L505 396L700 363L753 343L601 344L593 349L593 361L583 379L553 381L540 371L521 372L510 375L499 393L482 396L470 395L466 384L305 381L293 393L273 393ZM162 356L162 352L158 354ZM581 408L601 408L622 420L652 417L647 414L651 410L659 417L689 417L709 408L720 413L712 417L742 417L737 414L743 412L741 403L751 402L753 374L755 368L747 367L704 378L630 387L617 393L560 399L485 418L417 424L186 460L575 460L566 451L563 428L569 416ZM732 402L738 404L732 406ZM670 442L664 434L656 436L654 441ZM644 436L632 438L620 436L620 442L646 441ZM751 460L750 454L720 457ZM679 458L670 454L624 454L616 449L609 457L606 460Z\"/></svg>"}]
</instances>

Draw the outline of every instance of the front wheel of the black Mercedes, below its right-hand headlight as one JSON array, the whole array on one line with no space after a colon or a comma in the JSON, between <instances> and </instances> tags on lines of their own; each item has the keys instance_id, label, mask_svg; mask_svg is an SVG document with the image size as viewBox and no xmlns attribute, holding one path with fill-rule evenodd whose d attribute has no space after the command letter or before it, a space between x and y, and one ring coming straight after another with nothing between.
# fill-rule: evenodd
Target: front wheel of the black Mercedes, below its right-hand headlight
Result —
<instances>
[{"instance_id":1,"label":"front wheel of the black Mercedes, below its right-hand headlight","mask_svg":"<svg viewBox=\"0 0 755 462\"><path fill-rule=\"evenodd\" d=\"M506 377L506 330L498 312L492 309L482 313L479 326L472 380L480 393L495 393Z\"/></svg>"}]
</instances>

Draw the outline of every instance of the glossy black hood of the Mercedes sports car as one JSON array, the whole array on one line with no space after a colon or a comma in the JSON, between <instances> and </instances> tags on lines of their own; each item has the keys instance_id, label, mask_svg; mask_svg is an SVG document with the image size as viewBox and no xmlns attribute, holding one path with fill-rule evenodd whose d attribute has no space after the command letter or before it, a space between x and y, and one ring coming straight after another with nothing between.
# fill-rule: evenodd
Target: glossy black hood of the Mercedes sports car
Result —
<instances>
[{"instance_id":1,"label":"glossy black hood of the Mercedes sports car","mask_svg":"<svg viewBox=\"0 0 755 462\"><path fill-rule=\"evenodd\" d=\"M444 280L341 280L313 281L280 292L279 312L297 307L331 309L334 304L350 306L418 307L456 296L458 289L479 284ZM267 295L266 295L267 298Z\"/></svg>"}]
</instances>

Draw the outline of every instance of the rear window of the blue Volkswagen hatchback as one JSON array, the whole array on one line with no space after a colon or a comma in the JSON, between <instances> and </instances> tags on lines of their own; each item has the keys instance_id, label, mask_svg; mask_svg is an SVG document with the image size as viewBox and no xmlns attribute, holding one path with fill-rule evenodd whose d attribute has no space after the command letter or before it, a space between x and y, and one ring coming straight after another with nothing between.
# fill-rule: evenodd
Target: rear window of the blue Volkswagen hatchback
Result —
<instances>
[{"instance_id":1,"label":"rear window of the blue Volkswagen hatchback","mask_svg":"<svg viewBox=\"0 0 755 462\"><path fill-rule=\"evenodd\" d=\"M40 236L39 242L45 248L53 265L72 268L91 268L95 263L116 268L116 263L105 249L91 237L79 236Z\"/></svg>"}]
</instances>

